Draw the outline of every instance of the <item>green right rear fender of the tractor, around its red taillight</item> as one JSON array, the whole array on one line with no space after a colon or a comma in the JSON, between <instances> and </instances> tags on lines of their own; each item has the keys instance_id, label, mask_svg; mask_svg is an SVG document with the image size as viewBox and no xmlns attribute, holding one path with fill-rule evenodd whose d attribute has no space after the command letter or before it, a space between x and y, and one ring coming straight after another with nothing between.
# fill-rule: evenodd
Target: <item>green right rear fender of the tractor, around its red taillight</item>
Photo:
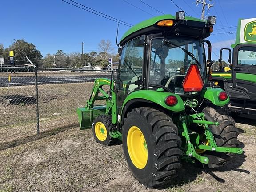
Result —
<instances>
[{"instance_id":1,"label":"green right rear fender of the tractor, around its red taillight","mask_svg":"<svg viewBox=\"0 0 256 192\"><path fill-rule=\"evenodd\" d=\"M224 106L229 103L229 96L227 100L219 100L219 94L223 92L221 88L206 88L201 92L201 97L210 100L216 106Z\"/></svg>"}]
</instances>

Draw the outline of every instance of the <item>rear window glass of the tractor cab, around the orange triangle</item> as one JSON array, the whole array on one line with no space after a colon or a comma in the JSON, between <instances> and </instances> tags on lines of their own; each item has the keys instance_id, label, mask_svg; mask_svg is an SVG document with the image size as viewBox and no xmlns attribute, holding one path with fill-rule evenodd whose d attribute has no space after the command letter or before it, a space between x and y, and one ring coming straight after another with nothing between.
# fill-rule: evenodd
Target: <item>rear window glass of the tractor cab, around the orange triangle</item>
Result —
<instances>
[{"instance_id":1,"label":"rear window glass of the tractor cab, around the orange triangle","mask_svg":"<svg viewBox=\"0 0 256 192\"><path fill-rule=\"evenodd\" d=\"M164 42L163 38L152 39L149 83L184 94L182 81L191 64L200 64L199 70L205 83L204 58L204 45L199 40L173 38Z\"/></svg>"}]
</instances>

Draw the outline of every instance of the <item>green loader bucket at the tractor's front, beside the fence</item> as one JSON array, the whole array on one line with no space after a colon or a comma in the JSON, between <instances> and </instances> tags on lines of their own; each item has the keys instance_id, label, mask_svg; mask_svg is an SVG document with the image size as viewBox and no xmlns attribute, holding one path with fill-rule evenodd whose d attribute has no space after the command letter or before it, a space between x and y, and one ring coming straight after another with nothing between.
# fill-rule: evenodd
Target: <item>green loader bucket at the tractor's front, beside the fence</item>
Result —
<instances>
[{"instance_id":1,"label":"green loader bucket at the tractor's front, beside the fence","mask_svg":"<svg viewBox=\"0 0 256 192\"><path fill-rule=\"evenodd\" d=\"M86 108L77 108L76 113L78 115L80 130L92 128L93 120L97 116L106 113L106 105L95 106L88 110Z\"/></svg>"}]
</instances>

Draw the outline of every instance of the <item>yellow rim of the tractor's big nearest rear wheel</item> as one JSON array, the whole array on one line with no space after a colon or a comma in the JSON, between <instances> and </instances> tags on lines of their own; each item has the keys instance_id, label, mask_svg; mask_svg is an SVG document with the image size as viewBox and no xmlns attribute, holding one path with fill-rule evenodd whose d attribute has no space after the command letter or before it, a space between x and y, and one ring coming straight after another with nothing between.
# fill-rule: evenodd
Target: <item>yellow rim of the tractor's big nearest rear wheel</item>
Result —
<instances>
[{"instance_id":1,"label":"yellow rim of the tractor's big nearest rear wheel","mask_svg":"<svg viewBox=\"0 0 256 192\"><path fill-rule=\"evenodd\" d=\"M127 148L134 166L143 169L148 161L148 148L143 133L136 126L132 126L128 131Z\"/></svg>"}]
</instances>

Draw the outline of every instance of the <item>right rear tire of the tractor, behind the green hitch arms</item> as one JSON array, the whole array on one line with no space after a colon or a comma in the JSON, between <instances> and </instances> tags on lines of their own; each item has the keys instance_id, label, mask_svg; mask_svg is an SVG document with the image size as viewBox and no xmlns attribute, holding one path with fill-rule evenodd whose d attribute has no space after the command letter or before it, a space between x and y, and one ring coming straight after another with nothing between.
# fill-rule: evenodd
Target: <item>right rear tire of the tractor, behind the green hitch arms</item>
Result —
<instances>
[{"instance_id":1,"label":"right rear tire of the tractor, behind the green hitch arms","mask_svg":"<svg viewBox=\"0 0 256 192\"><path fill-rule=\"evenodd\" d=\"M219 126L210 125L216 144L219 147L238 147L240 145L237 136L239 134L232 117L226 115L222 108L206 107L203 109L206 120L217 121ZM204 156L209 158L208 168L219 168L228 164L233 153L205 151Z\"/></svg>"}]
</instances>

